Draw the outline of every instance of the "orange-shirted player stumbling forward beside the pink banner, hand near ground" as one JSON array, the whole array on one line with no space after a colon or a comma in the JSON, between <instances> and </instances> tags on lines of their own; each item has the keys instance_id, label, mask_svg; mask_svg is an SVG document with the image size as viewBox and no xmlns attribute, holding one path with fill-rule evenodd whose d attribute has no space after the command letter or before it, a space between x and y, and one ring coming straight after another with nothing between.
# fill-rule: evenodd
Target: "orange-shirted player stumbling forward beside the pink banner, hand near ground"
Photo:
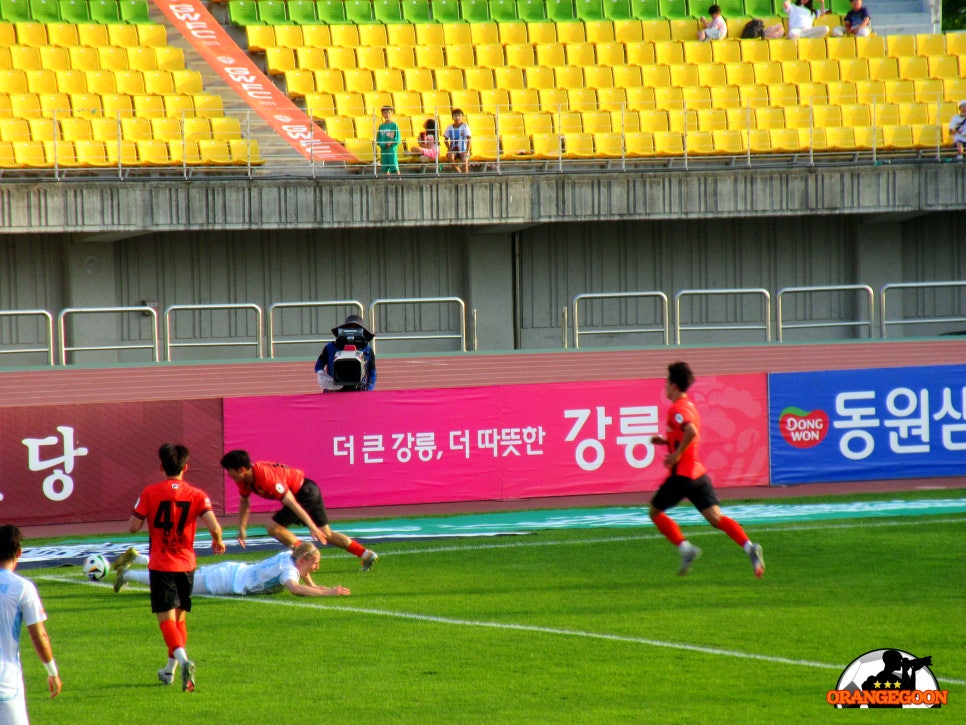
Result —
<instances>
[{"instance_id":1,"label":"orange-shirted player stumbling forward beside the pink banner, hand near ground","mask_svg":"<svg viewBox=\"0 0 966 725\"><path fill-rule=\"evenodd\" d=\"M345 549L362 560L362 571L369 571L379 556L345 534L333 531L329 515L322 501L322 492L315 481L306 478L305 472L284 463L252 462L248 451L228 451L221 459L221 467L238 486L241 501L238 504L238 543L245 546L245 529L251 510L251 495L281 501L279 509L268 524L270 536L285 546L297 546L299 539L289 531L290 526L303 523L314 539L322 544L332 544Z\"/></svg>"}]
</instances>

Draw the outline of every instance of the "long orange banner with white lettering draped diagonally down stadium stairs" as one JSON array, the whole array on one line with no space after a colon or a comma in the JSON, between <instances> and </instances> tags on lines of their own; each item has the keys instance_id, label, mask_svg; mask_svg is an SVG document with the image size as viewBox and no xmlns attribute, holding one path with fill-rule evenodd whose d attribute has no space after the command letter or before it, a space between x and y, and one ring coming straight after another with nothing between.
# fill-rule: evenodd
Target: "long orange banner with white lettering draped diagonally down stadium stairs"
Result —
<instances>
[{"instance_id":1,"label":"long orange banner with white lettering draped diagonally down stadium stairs","mask_svg":"<svg viewBox=\"0 0 966 725\"><path fill-rule=\"evenodd\" d=\"M200 0L154 2L229 87L305 158L357 160L258 69Z\"/></svg>"}]
</instances>

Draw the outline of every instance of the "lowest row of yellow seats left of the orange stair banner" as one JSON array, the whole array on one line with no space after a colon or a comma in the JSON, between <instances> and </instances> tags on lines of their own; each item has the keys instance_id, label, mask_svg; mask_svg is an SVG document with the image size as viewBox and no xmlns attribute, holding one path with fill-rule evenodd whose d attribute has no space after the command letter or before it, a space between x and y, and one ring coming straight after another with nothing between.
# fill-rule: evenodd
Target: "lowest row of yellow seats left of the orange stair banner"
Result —
<instances>
[{"instance_id":1,"label":"lowest row of yellow seats left of the orange stair banner","mask_svg":"<svg viewBox=\"0 0 966 725\"><path fill-rule=\"evenodd\" d=\"M0 169L141 166L248 166L262 163L258 142L245 139L105 142L0 141Z\"/></svg>"}]
</instances>

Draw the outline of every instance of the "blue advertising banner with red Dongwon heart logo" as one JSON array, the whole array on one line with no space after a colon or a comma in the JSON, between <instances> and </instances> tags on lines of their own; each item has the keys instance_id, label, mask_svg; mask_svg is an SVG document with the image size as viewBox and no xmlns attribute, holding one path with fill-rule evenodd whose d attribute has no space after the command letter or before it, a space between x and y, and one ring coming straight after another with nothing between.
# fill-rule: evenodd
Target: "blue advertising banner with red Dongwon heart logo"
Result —
<instances>
[{"instance_id":1,"label":"blue advertising banner with red Dongwon heart logo","mask_svg":"<svg viewBox=\"0 0 966 725\"><path fill-rule=\"evenodd\" d=\"M768 376L774 484L962 476L966 366Z\"/></svg>"}]
</instances>

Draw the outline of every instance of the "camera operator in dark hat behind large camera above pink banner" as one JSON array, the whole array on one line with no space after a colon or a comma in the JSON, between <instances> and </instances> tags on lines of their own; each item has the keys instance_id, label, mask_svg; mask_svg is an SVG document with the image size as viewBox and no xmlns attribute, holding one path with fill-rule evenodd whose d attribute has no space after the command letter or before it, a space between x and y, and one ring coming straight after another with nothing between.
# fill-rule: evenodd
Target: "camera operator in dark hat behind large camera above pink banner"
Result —
<instances>
[{"instance_id":1,"label":"camera operator in dark hat behind large camera above pink banner","mask_svg":"<svg viewBox=\"0 0 966 725\"><path fill-rule=\"evenodd\" d=\"M376 353L369 344L375 337L359 315L349 315L332 328L335 340L322 348L315 361L315 376L323 392L372 390L376 387Z\"/></svg>"}]
</instances>

